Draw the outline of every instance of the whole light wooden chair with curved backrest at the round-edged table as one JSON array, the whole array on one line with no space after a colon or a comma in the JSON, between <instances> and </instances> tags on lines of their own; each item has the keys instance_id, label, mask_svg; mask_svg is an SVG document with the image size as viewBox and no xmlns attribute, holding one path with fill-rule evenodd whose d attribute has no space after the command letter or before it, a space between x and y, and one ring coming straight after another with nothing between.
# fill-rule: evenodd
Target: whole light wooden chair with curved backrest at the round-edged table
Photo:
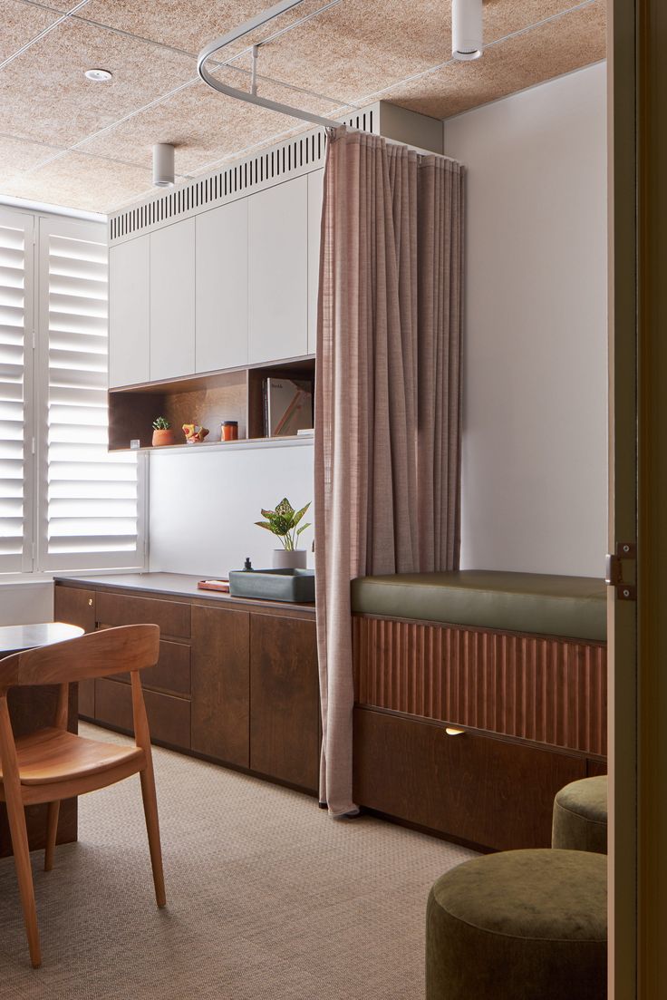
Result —
<instances>
[{"instance_id":1,"label":"whole light wooden chair with curved backrest at the round-edged table","mask_svg":"<svg viewBox=\"0 0 667 1000\"><path fill-rule=\"evenodd\" d=\"M139 679L140 670L157 663L159 641L157 625L125 625L14 653L0 660L0 801L7 805L28 947L35 968L41 964L41 952L25 822L28 805L49 804L44 869L50 871L61 800L138 773L155 896L158 906L166 903L151 740ZM132 683L135 746L103 743L68 732L70 683L126 671L130 672ZM7 692L12 687L37 684L60 685L54 724L14 739Z\"/></svg>"}]
</instances>

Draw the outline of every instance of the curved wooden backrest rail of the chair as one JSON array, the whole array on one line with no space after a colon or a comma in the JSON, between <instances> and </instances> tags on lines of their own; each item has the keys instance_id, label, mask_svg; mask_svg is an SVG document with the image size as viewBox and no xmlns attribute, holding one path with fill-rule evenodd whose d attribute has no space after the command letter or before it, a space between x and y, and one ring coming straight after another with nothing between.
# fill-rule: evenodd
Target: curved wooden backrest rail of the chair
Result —
<instances>
[{"instance_id":1,"label":"curved wooden backrest rail of the chair","mask_svg":"<svg viewBox=\"0 0 667 1000\"><path fill-rule=\"evenodd\" d=\"M158 625L121 625L0 660L0 693L10 687L68 684L152 667L158 661Z\"/></svg>"}]
</instances>

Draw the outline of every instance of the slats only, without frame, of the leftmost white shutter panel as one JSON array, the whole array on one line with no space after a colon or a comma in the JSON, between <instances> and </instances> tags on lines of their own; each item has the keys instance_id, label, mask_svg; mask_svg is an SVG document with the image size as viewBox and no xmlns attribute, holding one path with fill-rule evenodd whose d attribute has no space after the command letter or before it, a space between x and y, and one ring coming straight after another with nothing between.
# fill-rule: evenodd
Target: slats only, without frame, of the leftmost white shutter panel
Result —
<instances>
[{"instance_id":1,"label":"slats only, without frame, of the leftmost white shutter panel","mask_svg":"<svg viewBox=\"0 0 667 1000\"><path fill-rule=\"evenodd\" d=\"M31 247L32 249L32 247ZM23 564L26 232L0 224L0 569Z\"/></svg>"}]
</instances>

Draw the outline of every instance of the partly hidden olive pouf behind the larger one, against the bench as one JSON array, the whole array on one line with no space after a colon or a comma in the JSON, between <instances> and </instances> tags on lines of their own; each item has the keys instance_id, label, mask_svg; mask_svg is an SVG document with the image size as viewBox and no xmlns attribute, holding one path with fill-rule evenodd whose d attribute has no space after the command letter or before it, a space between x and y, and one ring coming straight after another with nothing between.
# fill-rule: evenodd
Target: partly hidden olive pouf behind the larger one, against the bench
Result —
<instances>
[{"instance_id":1,"label":"partly hidden olive pouf behind the larger one, against the bench","mask_svg":"<svg viewBox=\"0 0 667 1000\"><path fill-rule=\"evenodd\" d=\"M551 846L607 853L607 776L573 781L554 799Z\"/></svg>"}]
</instances>

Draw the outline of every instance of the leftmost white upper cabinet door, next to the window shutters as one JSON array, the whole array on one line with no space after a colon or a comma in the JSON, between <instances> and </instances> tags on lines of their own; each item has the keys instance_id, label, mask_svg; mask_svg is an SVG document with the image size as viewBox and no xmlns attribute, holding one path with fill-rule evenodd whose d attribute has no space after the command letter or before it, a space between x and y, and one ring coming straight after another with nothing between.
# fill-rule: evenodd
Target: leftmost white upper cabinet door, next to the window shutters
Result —
<instances>
[{"instance_id":1,"label":"leftmost white upper cabinet door, next to the window shutters","mask_svg":"<svg viewBox=\"0 0 667 1000\"><path fill-rule=\"evenodd\" d=\"M109 386L150 378L150 236L109 250Z\"/></svg>"}]
</instances>

